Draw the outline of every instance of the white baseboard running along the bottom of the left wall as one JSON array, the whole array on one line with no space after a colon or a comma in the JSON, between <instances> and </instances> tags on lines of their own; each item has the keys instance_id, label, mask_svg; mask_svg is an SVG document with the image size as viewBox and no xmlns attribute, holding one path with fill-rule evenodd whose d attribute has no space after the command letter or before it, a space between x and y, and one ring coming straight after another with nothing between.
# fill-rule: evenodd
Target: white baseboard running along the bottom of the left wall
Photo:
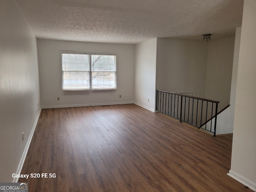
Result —
<instances>
[{"instance_id":1,"label":"white baseboard running along the bottom of the left wall","mask_svg":"<svg viewBox=\"0 0 256 192\"><path fill-rule=\"evenodd\" d=\"M25 147L24 152L23 152L23 154L22 154L22 157L21 157L21 159L20 159L20 163L19 163L19 165L18 165L16 174L20 174L20 172L21 172L21 170L22 170L23 164L24 164L24 162L25 162L25 159L26 159L26 156L27 156L27 153L28 153L28 148L29 148L29 146L30 146L30 142L31 142L31 140L32 140L32 137L33 137L34 131L35 131L35 129L36 129L36 125L37 125L37 122L38 122L40 113L41 113L41 109L42 109L42 108L39 109L38 114L37 114L37 116L36 116L36 120L35 120L35 122L34 122L34 125L33 125L33 127L32 127L32 130L31 130L30 135L29 135L29 137L28 137L28 142L27 142L27 144L26 144L26 147ZM17 183L18 180L19 180L19 178L14 178L14 179L12 180L12 182L13 182L13 183Z\"/></svg>"}]
</instances>

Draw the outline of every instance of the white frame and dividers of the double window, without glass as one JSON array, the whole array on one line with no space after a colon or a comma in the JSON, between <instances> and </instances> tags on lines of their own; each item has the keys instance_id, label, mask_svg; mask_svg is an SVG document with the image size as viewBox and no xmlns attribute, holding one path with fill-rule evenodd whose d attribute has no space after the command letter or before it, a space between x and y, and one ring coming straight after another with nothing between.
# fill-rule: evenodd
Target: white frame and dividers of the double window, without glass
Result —
<instances>
[{"instance_id":1,"label":"white frame and dividers of the double window, without glass","mask_svg":"<svg viewBox=\"0 0 256 192\"><path fill-rule=\"evenodd\" d=\"M63 54L86 54L89 56L89 77L88 77L88 88L64 88L64 72L66 71L65 69L63 69L63 59L62 59L62 55ZM101 71L101 72L111 72L114 75L114 85L113 87L94 87L93 88L93 79L92 79L92 74L93 71L92 70L92 55L99 55L99 56L114 56L114 70L111 71ZM116 54L98 54L98 53L81 53L81 52L61 52L61 64L62 64L62 91L65 93L86 93L88 91L114 91L117 89L117 75L116 75ZM104 75L103 75L104 76Z\"/></svg>"}]
</instances>

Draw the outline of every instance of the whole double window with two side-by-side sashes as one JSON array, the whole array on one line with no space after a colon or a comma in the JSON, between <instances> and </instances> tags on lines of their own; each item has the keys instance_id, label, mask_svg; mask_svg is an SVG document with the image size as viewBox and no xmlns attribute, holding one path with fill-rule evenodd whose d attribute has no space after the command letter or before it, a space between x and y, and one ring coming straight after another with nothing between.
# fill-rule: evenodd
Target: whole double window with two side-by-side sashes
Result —
<instances>
[{"instance_id":1,"label":"whole double window with two side-by-side sashes","mask_svg":"<svg viewBox=\"0 0 256 192\"><path fill-rule=\"evenodd\" d=\"M62 53L62 90L116 89L116 56Z\"/></svg>"}]
</instances>

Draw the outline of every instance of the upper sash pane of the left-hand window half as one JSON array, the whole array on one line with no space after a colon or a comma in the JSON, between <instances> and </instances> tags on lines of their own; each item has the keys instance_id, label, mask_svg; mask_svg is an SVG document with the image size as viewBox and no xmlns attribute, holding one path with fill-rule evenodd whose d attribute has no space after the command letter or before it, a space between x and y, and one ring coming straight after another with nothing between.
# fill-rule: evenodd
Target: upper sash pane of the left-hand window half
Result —
<instances>
[{"instance_id":1,"label":"upper sash pane of the left-hand window half","mask_svg":"<svg viewBox=\"0 0 256 192\"><path fill-rule=\"evenodd\" d=\"M89 71L90 55L62 53L62 71Z\"/></svg>"}]
</instances>

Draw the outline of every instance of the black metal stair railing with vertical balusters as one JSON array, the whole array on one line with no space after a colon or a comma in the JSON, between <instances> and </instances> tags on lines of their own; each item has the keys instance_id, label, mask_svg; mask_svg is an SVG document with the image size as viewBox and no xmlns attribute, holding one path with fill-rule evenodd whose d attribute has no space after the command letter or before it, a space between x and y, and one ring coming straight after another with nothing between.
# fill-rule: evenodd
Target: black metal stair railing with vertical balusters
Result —
<instances>
[{"instance_id":1,"label":"black metal stair railing with vertical balusters","mask_svg":"<svg viewBox=\"0 0 256 192\"><path fill-rule=\"evenodd\" d=\"M156 111L216 136L218 101L156 90Z\"/></svg>"}]
</instances>

